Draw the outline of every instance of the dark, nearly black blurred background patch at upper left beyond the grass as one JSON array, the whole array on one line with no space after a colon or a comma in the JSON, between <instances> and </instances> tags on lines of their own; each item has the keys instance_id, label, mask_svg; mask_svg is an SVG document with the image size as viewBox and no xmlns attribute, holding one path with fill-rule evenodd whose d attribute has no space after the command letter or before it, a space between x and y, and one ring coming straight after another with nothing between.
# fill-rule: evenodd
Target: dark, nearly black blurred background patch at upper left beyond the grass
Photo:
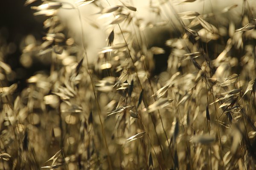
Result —
<instances>
[{"instance_id":1,"label":"dark, nearly black blurred background patch at upper left beyond the grass","mask_svg":"<svg viewBox=\"0 0 256 170\"><path fill-rule=\"evenodd\" d=\"M35 17L30 6L24 6L26 0L4 0L0 5L0 60L9 64L13 70L7 83L18 83L20 91L26 86L25 80L36 71L47 70L49 64L33 57L20 62L25 40L41 41L45 35L43 17ZM40 1L33 5L40 5Z\"/></svg>"}]
</instances>

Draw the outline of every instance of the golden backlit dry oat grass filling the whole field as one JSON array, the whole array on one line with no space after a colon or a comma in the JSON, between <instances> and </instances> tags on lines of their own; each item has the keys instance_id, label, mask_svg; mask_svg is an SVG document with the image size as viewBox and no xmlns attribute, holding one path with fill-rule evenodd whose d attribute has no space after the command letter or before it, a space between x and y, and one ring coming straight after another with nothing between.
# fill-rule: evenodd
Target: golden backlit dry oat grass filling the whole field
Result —
<instances>
[{"instance_id":1,"label":"golden backlit dry oat grass filling the whole field","mask_svg":"<svg viewBox=\"0 0 256 170\"><path fill-rule=\"evenodd\" d=\"M96 63L56 15L69 8L80 16L87 3L114 15ZM12 70L0 38L0 169L256 169L256 30L247 1L240 29L209 23L214 13L183 12L178 22L189 24L175 28L166 20L140 25L128 3L43 4L33 9L47 16L47 35L41 44L27 41L21 63L50 58L49 74L30 77L20 93L6 86ZM172 38L148 47L141 29L162 27L175 29ZM155 76L154 59L166 49L167 69Z\"/></svg>"}]
</instances>

